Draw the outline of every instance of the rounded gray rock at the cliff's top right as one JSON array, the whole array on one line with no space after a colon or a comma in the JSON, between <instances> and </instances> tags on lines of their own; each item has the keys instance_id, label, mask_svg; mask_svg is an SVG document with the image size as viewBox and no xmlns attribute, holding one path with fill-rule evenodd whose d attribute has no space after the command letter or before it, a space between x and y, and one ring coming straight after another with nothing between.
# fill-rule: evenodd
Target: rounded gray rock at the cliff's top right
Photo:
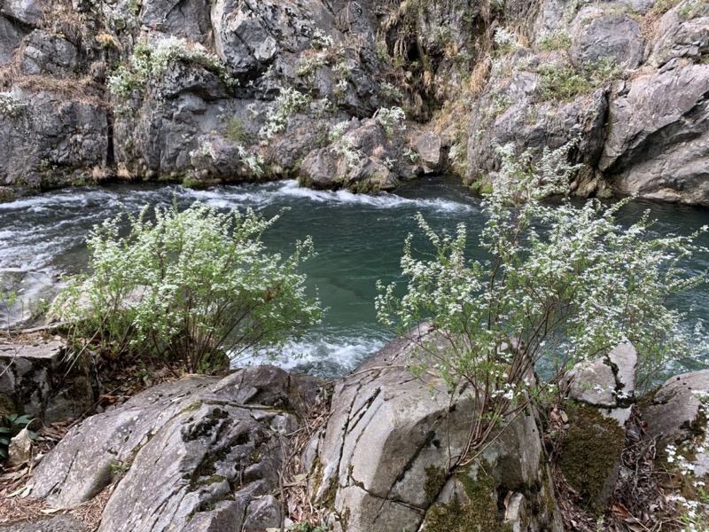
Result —
<instances>
[{"instance_id":1,"label":"rounded gray rock at the cliff's top right","mask_svg":"<svg viewBox=\"0 0 709 532\"><path fill-rule=\"evenodd\" d=\"M614 6L589 6L581 9L572 26L571 57L574 65L584 66L599 59L615 59L618 65L636 68L643 59L640 27Z\"/></svg>"}]
</instances>

